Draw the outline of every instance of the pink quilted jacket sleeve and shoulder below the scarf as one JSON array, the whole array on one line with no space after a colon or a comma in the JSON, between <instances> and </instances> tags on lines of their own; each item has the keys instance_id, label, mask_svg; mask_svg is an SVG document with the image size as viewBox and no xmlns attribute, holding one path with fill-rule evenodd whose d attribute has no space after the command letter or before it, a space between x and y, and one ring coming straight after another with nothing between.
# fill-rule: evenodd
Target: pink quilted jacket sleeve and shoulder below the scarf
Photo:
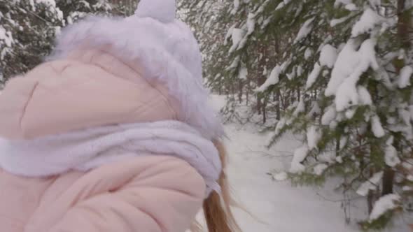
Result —
<instances>
[{"instance_id":1,"label":"pink quilted jacket sleeve and shoulder below the scarf","mask_svg":"<svg viewBox=\"0 0 413 232\"><path fill-rule=\"evenodd\" d=\"M91 186L90 180L98 181ZM197 171L172 157L112 164L78 184L83 185L77 193L83 200L48 232L183 232L200 210L205 192Z\"/></svg>"}]
</instances>

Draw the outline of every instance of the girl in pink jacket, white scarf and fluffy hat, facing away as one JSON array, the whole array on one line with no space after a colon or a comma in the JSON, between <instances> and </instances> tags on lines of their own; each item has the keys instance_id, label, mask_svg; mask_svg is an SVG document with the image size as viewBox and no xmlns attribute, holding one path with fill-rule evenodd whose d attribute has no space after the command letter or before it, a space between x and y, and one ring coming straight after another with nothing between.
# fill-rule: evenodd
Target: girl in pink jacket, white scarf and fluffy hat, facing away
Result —
<instances>
[{"instance_id":1,"label":"girl in pink jacket, white scarf and fluffy hat, facing away","mask_svg":"<svg viewBox=\"0 0 413 232\"><path fill-rule=\"evenodd\" d=\"M48 62L8 82L1 231L183 232L202 205L210 232L237 229L223 127L175 10L143 0L132 17L89 17L62 32Z\"/></svg>"}]
</instances>

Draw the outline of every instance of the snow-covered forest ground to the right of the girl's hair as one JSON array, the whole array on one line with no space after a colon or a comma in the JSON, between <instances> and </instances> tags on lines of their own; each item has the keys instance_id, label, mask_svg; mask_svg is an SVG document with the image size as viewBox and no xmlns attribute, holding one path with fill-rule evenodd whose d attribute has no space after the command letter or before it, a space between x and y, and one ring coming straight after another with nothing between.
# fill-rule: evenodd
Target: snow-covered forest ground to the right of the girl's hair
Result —
<instances>
[{"instance_id":1,"label":"snow-covered forest ground to the right of the girl's hair","mask_svg":"<svg viewBox=\"0 0 413 232\"><path fill-rule=\"evenodd\" d=\"M216 108L225 100L212 96ZM366 217L365 202L352 203L351 224L346 224L342 210L343 196L328 182L323 189L293 187L290 182L277 182L268 173L288 170L291 155L300 143L285 136L271 150L265 148L267 137L251 125L227 124L226 132L230 166L228 175L235 198L253 214L235 209L244 232L344 232L359 231L356 218ZM258 220L259 219L259 220ZM406 229L391 231L407 232Z\"/></svg>"}]
</instances>

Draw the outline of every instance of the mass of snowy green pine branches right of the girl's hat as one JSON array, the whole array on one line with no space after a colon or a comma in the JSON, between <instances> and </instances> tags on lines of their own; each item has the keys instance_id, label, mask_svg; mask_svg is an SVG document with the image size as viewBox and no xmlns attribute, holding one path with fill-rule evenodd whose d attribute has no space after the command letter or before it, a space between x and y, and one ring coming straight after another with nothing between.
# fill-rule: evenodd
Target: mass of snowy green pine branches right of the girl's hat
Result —
<instances>
[{"instance_id":1,"label":"mass of snowy green pine branches right of the girl's hat","mask_svg":"<svg viewBox=\"0 0 413 232\"><path fill-rule=\"evenodd\" d=\"M221 4L211 27L225 28L216 31L224 39L216 45L206 36L203 43L216 45L204 49L206 57L219 54L204 66L214 92L229 96L223 113L240 122L246 107L248 118L274 116L264 124L272 131L269 146L285 133L300 135L290 179L320 184L335 177L344 196L364 197L370 215L359 219L360 229L382 229L411 212L413 4Z\"/></svg>"}]
</instances>

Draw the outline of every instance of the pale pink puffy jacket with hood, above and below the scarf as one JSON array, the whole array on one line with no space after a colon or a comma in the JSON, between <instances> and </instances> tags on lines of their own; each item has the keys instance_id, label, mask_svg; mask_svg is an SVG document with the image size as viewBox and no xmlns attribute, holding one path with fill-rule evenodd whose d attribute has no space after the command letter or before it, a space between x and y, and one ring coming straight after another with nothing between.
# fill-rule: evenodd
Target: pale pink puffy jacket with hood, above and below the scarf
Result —
<instances>
[{"instance_id":1,"label":"pale pink puffy jacket with hood, above and below the scarf","mask_svg":"<svg viewBox=\"0 0 413 232\"><path fill-rule=\"evenodd\" d=\"M0 136L30 139L107 124L176 119L166 89L101 50L73 52L8 82ZM41 157L39 157L41 159ZM202 177L173 157L137 157L44 179L0 171L2 232L183 232Z\"/></svg>"}]
</instances>

